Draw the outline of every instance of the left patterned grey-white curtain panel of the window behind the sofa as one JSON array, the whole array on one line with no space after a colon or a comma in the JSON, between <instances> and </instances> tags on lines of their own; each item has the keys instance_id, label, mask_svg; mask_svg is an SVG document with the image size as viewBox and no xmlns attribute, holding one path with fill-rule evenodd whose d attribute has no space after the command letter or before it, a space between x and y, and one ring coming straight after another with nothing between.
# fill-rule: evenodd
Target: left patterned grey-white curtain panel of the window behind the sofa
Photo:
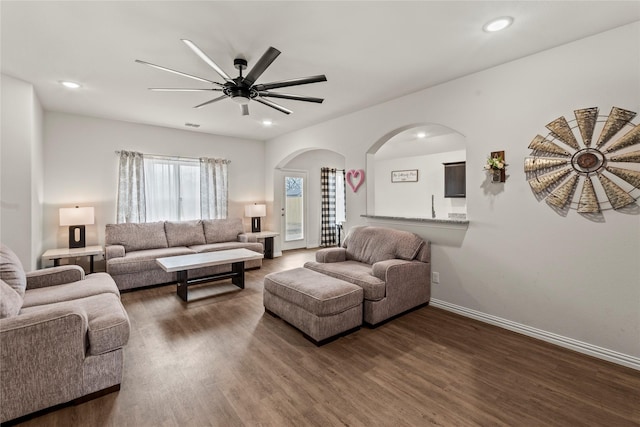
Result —
<instances>
[{"instance_id":1,"label":"left patterned grey-white curtain panel of the window behind the sofa","mask_svg":"<svg viewBox=\"0 0 640 427\"><path fill-rule=\"evenodd\" d=\"M142 153L120 152L118 170L118 223L145 222L144 161Z\"/></svg>"}]
</instances>

